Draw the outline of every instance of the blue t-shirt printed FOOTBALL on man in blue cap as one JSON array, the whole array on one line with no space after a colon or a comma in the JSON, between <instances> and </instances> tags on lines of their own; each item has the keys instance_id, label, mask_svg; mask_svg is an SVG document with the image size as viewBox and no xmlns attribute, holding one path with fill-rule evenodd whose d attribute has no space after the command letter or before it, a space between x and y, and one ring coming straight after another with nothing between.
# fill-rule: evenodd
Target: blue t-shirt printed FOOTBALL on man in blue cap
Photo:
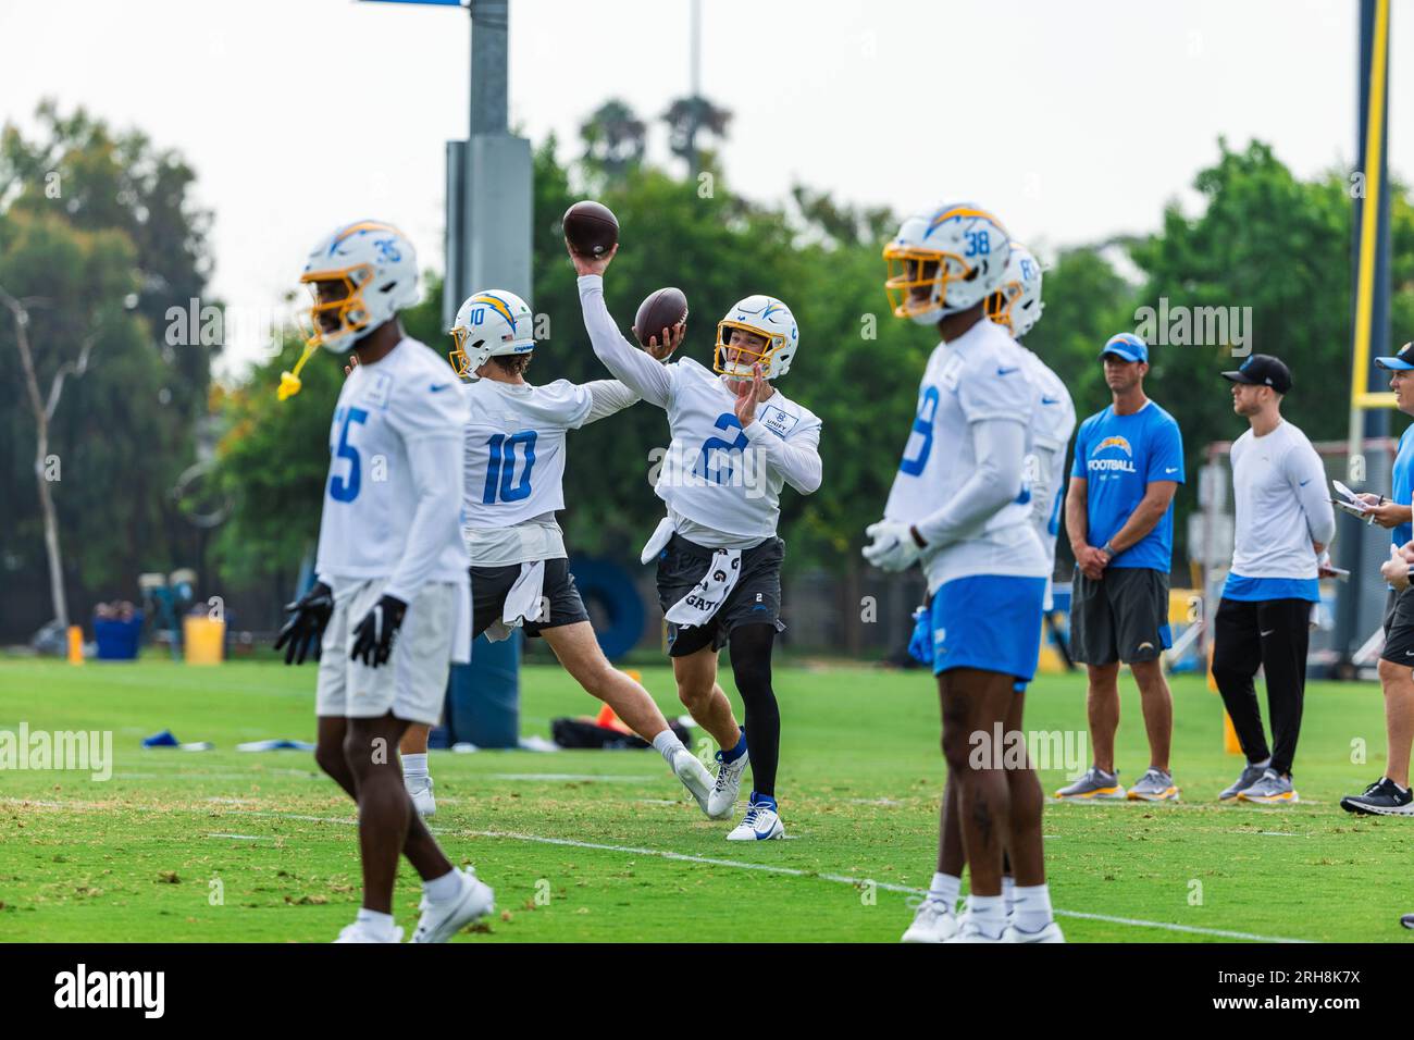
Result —
<instances>
[{"instance_id":1,"label":"blue t-shirt printed FOOTBALL on man in blue cap","mask_svg":"<svg viewBox=\"0 0 1414 1040\"><path fill-rule=\"evenodd\" d=\"M1184 439L1178 420L1152 400L1124 416L1114 415L1111 405L1080 423L1070 475L1087 481L1086 541L1100 548L1120 532L1151 481L1184 483ZM1109 566L1150 567L1167 574L1172 562L1174 504L1169 502L1154 529Z\"/></svg>"}]
</instances>

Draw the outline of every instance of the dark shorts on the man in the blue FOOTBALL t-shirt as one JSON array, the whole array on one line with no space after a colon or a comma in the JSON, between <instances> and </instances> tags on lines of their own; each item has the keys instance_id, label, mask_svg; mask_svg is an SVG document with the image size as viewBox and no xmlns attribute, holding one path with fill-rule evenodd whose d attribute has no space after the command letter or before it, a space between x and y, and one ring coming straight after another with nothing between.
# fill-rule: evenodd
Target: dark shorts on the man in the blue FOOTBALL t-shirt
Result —
<instances>
[{"instance_id":1,"label":"dark shorts on the man in the blue FOOTBALL t-shirt","mask_svg":"<svg viewBox=\"0 0 1414 1040\"><path fill-rule=\"evenodd\" d=\"M1109 567L1093 582L1075 572L1072 658L1087 665L1157 661L1171 645L1168 574L1151 567Z\"/></svg>"}]
</instances>

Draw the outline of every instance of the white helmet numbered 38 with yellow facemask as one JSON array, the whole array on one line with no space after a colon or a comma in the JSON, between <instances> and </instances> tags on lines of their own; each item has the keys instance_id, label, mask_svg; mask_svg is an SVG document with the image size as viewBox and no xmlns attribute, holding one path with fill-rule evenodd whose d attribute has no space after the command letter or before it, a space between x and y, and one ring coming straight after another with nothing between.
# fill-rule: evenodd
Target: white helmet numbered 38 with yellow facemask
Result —
<instances>
[{"instance_id":1,"label":"white helmet numbered 38 with yellow facemask","mask_svg":"<svg viewBox=\"0 0 1414 1040\"><path fill-rule=\"evenodd\" d=\"M884 246L884 283L894 316L919 324L986 300L1001 284L1011 239L1001 221L971 202L909 216Z\"/></svg>"}]
</instances>

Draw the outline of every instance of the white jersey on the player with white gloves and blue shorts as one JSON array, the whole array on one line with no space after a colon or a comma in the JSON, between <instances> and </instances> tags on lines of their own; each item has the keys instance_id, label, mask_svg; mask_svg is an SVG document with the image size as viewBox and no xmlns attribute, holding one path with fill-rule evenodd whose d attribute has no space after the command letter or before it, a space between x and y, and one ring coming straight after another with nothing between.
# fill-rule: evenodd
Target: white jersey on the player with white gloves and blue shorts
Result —
<instances>
[{"instance_id":1,"label":"white jersey on the player with white gloves and blue shorts","mask_svg":"<svg viewBox=\"0 0 1414 1040\"><path fill-rule=\"evenodd\" d=\"M913 429L884 507L887 519L916 524L967 484L977 468L976 422L1019 419L1031 454L1038 395L1027 365L1025 351L993 321L978 321L957 340L933 348L918 391ZM974 574L1048 576L1045 550L1031 526L1029 485L964 538L925 549L922 566L929 591Z\"/></svg>"}]
</instances>

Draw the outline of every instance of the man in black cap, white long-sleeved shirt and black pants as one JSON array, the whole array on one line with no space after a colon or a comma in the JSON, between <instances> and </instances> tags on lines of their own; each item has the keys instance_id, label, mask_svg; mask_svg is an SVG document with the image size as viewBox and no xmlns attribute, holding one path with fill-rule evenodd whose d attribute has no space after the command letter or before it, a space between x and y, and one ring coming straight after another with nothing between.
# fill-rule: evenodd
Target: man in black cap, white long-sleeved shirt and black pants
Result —
<instances>
[{"instance_id":1,"label":"man in black cap, white long-sleeved shirt and black pants","mask_svg":"<svg viewBox=\"0 0 1414 1040\"><path fill-rule=\"evenodd\" d=\"M1316 579L1329 573L1326 546L1335 511L1325 467L1307 434L1281 417L1291 372L1280 358L1253 354L1234 372L1233 412L1249 430L1232 447L1237 522L1233 566L1213 621L1213 679L1233 720L1247 765L1220 798L1290 805L1291 767L1301 736L1307 648ZM1261 729L1257 668L1267 679L1273 747Z\"/></svg>"}]
</instances>

